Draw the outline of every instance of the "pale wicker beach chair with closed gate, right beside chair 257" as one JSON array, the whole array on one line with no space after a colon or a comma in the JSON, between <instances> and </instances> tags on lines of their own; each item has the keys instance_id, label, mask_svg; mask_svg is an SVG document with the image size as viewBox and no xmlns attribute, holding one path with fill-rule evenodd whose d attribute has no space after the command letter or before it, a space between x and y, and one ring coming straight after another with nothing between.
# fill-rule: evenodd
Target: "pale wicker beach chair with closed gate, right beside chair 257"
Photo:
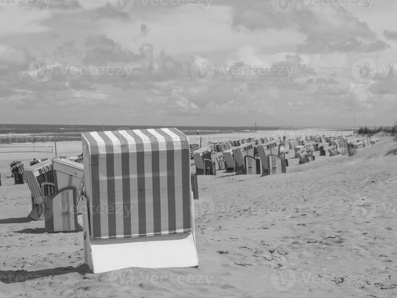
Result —
<instances>
[{"instance_id":1,"label":"pale wicker beach chair with closed gate, right beside chair 257","mask_svg":"<svg viewBox=\"0 0 397 298\"><path fill-rule=\"evenodd\" d=\"M54 190L48 187L51 192L49 194L48 190L42 189L45 230L82 230L81 192L84 187L84 166L68 159L52 159L52 165Z\"/></svg>"}]
</instances>

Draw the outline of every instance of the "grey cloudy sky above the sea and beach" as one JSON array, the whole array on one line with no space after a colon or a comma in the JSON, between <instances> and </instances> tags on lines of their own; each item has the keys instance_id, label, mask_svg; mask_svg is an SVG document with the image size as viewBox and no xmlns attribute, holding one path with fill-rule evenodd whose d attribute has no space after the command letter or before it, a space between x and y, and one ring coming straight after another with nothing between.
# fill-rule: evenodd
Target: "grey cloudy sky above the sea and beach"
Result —
<instances>
[{"instance_id":1,"label":"grey cloudy sky above the sea and beach","mask_svg":"<svg viewBox=\"0 0 397 298\"><path fill-rule=\"evenodd\" d=\"M0 0L0 123L391 125L395 0Z\"/></svg>"}]
</instances>

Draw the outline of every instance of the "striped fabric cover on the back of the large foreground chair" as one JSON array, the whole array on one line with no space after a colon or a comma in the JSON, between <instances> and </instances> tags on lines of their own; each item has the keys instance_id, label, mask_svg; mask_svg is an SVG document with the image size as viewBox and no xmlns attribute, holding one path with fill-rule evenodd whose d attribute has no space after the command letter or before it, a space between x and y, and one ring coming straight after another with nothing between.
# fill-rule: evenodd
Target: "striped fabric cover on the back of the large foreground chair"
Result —
<instances>
[{"instance_id":1,"label":"striped fabric cover on the back of the large foreground chair","mask_svg":"<svg viewBox=\"0 0 397 298\"><path fill-rule=\"evenodd\" d=\"M194 229L189 139L176 128L82 134L91 239Z\"/></svg>"}]
</instances>

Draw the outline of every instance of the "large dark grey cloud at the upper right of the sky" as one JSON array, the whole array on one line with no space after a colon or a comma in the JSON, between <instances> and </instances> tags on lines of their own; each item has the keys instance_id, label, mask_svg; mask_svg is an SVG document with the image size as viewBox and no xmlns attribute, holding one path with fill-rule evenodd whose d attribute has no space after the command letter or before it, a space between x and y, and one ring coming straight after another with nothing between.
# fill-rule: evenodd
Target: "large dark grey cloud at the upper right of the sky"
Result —
<instances>
[{"instance_id":1,"label":"large dark grey cloud at the upper right of the sky","mask_svg":"<svg viewBox=\"0 0 397 298\"><path fill-rule=\"evenodd\" d=\"M376 52L389 47L377 39L368 24L353 16L343 7L299 5L287 14L280 14L268 5L235 10L231 25L236 29L293 30L306 36L297 45L298 52Z\"/></svg>"}]
</instances>

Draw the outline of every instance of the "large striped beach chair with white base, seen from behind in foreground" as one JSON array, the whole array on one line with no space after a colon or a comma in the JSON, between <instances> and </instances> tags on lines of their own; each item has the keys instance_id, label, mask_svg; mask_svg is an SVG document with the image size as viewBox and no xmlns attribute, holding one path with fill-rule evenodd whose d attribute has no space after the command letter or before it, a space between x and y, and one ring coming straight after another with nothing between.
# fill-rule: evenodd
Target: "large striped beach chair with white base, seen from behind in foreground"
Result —
<instances>
[{"instance_id":1,"label":"large striped beach chair with white base, seen from behind in foreground","mask_svg":"<svg viewBox=\"0 0 397 298\"><path fill-rule=\"evenodd\" d=\"M176 128L82 134L85 263L197 267L189 139Z\"/></svg>"}]
</instances>

